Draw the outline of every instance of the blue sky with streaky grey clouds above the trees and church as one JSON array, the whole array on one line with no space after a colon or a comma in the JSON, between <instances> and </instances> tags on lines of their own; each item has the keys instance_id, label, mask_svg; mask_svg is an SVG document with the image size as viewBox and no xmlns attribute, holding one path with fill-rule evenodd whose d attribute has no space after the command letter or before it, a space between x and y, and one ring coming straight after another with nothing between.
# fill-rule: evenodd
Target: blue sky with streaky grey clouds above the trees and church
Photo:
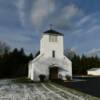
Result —
<instances>
[{"instance_id":1,"label":"blue sky with streaky grey clouds above the trees and church","mask_svg":"<svg viewBox=\"0 0 100 100\"><path fill-rule=\"evenodd\" d=\"M100 0L0 0L0 41L11 48L36 52L50 24L64 34L65 48L100 52Z\"/></svg>"}]
</instances>

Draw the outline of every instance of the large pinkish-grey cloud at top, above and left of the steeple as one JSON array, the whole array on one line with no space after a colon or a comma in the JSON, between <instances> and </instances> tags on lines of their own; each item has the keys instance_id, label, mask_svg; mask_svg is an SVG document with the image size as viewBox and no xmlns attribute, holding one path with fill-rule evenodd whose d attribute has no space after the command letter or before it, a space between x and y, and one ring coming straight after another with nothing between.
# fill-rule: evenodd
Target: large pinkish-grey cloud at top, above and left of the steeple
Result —
<instances>
[{"instance_id":1,"label":"large pinkish-grey cloud at top, above and left of the steeple","mask_svg":"<svg viewBox=\"0 0 100 100\"><path fill-rule=\"evenodd\" d=\"M41 25L44 23L43 21L54 11L54 0L35 0L31 10L33 25L36 27L41 27Z\"/></svg>"}]
</instances>

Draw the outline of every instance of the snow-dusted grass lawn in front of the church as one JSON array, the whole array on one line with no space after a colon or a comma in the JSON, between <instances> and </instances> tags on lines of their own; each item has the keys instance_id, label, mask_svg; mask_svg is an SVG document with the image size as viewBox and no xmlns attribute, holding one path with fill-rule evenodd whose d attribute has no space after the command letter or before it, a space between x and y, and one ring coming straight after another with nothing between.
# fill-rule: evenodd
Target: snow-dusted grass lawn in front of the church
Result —
<instances>
[{"instance_id":1,"label":"snow-dusted grass lawn in front of the church","mask_svg":"<svg viewBox=\"0 0 100 100\"><path fill-rule=\"evenodd\" d=\"M65 91L53 84L12 83L11 80L0 81L0 100L94 100Z\"/></svg>"}]
</instances>

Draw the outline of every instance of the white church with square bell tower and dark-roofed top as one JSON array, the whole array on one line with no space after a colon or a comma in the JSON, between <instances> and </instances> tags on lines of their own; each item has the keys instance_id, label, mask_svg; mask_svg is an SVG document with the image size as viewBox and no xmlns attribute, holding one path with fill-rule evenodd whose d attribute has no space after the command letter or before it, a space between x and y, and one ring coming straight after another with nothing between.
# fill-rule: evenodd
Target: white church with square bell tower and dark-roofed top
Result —
<instances>
[{"instance_id":1,"label":"white church with square bell tower and dark-roofed top","mask_svg":"<svg viewBox=\"0 0 100 100\"><path fill-rule=\"evenodd\" d=\"M72 78L72 62L64 55L63 38L62 33L53 29L42 33L40 54L29 62L28 78L33 81L40 81L40 75L47 80Z\"/></svg>"}]
</instances>

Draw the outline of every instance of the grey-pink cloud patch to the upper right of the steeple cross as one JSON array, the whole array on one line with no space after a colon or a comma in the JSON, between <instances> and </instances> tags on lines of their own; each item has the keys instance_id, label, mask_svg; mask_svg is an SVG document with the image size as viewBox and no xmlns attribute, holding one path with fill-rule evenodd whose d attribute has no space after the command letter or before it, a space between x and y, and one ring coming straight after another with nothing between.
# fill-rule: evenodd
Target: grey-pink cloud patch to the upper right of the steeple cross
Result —
<instances>
[{"instance_id":1,"label":"grey-pink cloud patch to the upper right of the steeple cross","mask_svg":"<svg viewBox=\"0 0 100 100\"><path fill-rule=\"evenodd\" d=\"M54 24L58 29L72 30L74 28L74 19L81 16L83 16L83 11L77 5L68 4L60 10Z\"/></svg>"}]
</instances>

